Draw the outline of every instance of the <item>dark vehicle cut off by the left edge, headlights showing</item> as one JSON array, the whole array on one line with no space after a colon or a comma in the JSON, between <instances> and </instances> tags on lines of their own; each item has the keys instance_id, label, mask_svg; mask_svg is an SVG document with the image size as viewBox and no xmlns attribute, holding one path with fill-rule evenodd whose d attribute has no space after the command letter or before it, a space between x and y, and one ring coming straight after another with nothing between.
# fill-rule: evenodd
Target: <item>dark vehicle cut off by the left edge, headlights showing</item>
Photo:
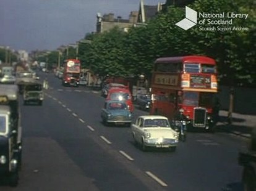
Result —
<instances>
[{"instance_id":1,"label":"dark vehicle cut off by the left edge, headlights showing","mask_svg":"<svg viewBox=\"0 0 256 191\"><path fill-rule=\"evenodd\" d=\"M0 179L7 179L11 186L19 182L21 129L18 87L0 85Z\"/></svg>"}]
</instances>

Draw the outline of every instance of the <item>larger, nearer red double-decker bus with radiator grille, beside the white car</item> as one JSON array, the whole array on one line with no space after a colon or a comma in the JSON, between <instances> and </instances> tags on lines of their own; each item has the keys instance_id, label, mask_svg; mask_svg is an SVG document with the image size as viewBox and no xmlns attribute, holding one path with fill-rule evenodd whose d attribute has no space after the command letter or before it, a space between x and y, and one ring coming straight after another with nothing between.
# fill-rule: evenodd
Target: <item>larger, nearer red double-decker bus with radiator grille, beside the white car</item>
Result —
<instances>
[{"instance_id":1,"label":"larger, nearer red double-decker bus with radiator grille, beside the white car","mask_svg":"<svg viewBox=\"0 0 256 191\"><path fill-rule=\"evenodd\" d=\"M197 55L156 59L151 81L151 115L175 120L182 109L189 127L213 129L218 117L215 60Z\"/></svg>"}]
</instances>

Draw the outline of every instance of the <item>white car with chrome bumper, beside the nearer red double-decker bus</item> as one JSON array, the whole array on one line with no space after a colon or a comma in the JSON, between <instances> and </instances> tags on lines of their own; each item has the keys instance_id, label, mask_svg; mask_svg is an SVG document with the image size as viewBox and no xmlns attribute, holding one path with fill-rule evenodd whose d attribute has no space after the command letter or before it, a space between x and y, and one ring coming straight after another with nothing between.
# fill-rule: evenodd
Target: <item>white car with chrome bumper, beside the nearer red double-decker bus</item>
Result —
<instances>
[{"instance_id":1,"label":"white car with chrome bumper, beside the nearer red double-decker bus","mask_svg":"<svg viewBox=\"0 0 256 191\"><path fill-rule=\"evenodd\" d=\"M139 116L132 124L132 137L143 151L148 147L175 151L179 142L179 134L171 128L168 118L160 115Z\"/></svg>"}]
</instances>

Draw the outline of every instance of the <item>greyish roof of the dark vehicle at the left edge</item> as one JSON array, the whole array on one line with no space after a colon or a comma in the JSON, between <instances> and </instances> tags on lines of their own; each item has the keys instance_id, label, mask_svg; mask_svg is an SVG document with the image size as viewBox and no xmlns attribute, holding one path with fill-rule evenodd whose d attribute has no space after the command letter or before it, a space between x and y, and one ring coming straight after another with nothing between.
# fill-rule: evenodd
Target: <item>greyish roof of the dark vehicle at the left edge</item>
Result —
<instances>
[{"instance_id":1,"label":"greyish roof of the dark vehicle at the left edge","mask_svg":"<svg viewBox=\"0 0 256 191\"><path fill-rule=\"evenodd\" d=\"M16 100L19 96L19 87L16 84L0 84L0 95L6 95L9 100Z\"/></svg>"}]
</instances>

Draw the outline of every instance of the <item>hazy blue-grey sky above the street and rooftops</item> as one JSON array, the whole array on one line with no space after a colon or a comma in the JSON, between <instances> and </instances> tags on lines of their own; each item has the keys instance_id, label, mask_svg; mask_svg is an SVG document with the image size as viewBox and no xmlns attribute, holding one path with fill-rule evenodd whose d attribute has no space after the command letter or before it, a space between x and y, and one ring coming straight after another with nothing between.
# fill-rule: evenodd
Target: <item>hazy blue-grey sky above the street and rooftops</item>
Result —
<instances>
[{"instance_id":1,"label":"hazy blue-grey sky above the street and rooftops","mask_svg":"<svg viewBox=\"0 0 256 191\"><path fill-rule=\"evenodd\" d=\"M165 0L144 0L156 5ZM128 19L140 0L0 0L0 46L53 51L96 30L96 14Z\"/></svg>"}]
</instances>

